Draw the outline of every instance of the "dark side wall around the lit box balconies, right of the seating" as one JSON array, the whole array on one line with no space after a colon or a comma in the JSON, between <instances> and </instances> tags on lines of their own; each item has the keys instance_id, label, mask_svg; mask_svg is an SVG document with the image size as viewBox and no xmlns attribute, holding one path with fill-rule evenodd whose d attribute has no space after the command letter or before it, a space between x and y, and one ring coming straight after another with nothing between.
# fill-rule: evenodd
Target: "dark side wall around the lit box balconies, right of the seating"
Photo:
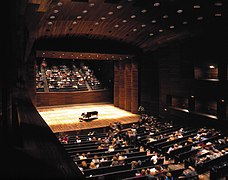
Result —
<instances>
[{"instance_id":1,"label":"dark side wall around the lit box balconies, right of the seating","mask_svg":"<svg viewBox=\"0 0 228 180\"><path fill-rule=\"evenodd\" d=\"M226 119L223 109L225 109L224 106L226 107L228 100L226 93L228 92L227 39L227 37L220 36L217 39L200 36L172 44L153 53L153 61L158 63L159 115L166 116L167 107L172 106L172 102L167 102L168 97L191 99L193 96L194 101L217 102L218 120ZM194 66L199 64L218 65L218 80L196 80ZM144 76L142 73L141 77ZM147 82L147 78L145 79ZM141 99L146 99L149 97L149 90L143 89L146 88L145 85L142 85L141 88ZM220 105L221 100L224 100L222 106ZM191 110L194 110L193 106L194 103L190 106ZM172 113L176 112L172 111ZM200 118L202 119L202 117Z\"/></svg>"}]
</instances>

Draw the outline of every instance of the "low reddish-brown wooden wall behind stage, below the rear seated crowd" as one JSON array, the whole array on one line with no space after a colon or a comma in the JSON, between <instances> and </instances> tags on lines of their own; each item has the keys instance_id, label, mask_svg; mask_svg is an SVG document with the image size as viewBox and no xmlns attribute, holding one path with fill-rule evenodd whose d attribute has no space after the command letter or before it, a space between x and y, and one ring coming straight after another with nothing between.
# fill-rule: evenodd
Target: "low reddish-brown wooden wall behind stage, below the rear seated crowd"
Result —
<instances>
[{"instance_id":1,"label":"low reddish-brown wooden wall behind stage, below the rear seated crowd","mask_svg":"<svg viewBox=\"0 0 228 180\"><path fill-rule=\"evenodd\" d=\"M79 103L111 102L111 92L49 92L36 93L36 106L54 106Z\"/></svg>"}]
</instances>

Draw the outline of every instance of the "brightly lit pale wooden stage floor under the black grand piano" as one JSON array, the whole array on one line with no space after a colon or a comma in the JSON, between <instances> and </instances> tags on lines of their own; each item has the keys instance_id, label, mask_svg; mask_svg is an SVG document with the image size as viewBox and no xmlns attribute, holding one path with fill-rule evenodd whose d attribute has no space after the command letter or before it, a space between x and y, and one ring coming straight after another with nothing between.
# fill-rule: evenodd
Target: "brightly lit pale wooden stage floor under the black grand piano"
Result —
<instances>
[{"instance_id":1,"label":"brightly lit pale wooden stage floor under the black grand piano","mask_svg":"<svg viewBox=\"0 0 228 180\"><path fill-rule=\"evenodd\" d=\"M111 103L86 103L37 107L38 112L54 133L106 127L113 122L134 123L138 114L122 110ZM98 119L81 121L84 112L98 111Z\"/></svg>"}]
</instances>

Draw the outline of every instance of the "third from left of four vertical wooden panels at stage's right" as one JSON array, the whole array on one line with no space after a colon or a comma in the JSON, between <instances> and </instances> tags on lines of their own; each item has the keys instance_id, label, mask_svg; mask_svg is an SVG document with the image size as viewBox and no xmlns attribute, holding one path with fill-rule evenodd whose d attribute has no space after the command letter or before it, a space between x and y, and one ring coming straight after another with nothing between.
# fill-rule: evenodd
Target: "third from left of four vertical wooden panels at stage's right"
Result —
<instances>
[{"instance_id":1,"label":"third from left of four vertical wooden panels at stage's right","mask_svg":"<svg viewBox=\"0 0 228 180\"><path fill-rule=\"evenodd\" d=\"M125 102L124 109L131 111L131 63L126 63L124 68Z\"/></svg>"}]
</instances>

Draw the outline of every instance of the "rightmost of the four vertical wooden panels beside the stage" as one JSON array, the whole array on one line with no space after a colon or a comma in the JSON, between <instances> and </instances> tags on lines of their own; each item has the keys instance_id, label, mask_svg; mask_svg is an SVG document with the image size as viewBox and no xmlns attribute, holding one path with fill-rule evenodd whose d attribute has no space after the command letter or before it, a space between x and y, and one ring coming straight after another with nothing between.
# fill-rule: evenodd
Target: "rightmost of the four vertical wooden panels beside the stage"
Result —
<instances>
[{"instance_id":1,"label":"rightmost of the four vertical wooden panels beside the stage","mask_svg":"<svg viewBox=\"0 0 228 180\"><path fill-rule=\"evenodd\" d=\"M131 112L138 113L138 64L131 64Z\"/></svg>"}]
</instances>

